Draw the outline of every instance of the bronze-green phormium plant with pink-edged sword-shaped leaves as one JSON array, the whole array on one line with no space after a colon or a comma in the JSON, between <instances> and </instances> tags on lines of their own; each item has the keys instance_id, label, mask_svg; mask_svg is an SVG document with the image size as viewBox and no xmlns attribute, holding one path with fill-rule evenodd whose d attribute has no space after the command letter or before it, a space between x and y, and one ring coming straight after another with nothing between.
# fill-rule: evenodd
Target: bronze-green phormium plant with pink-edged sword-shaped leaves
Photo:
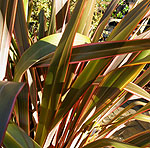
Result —
<instances>
[{"instance_id":1,"label":"bronze-green phormium plant with pink-edged sword-shaped leaves","mask_svg":"<svg viewBox=\"0 0 150 148\"><path fill-rule=\"evenodd\" d=\"M52 0L49 23L42 9L38 34L30 38L32 1L0 1L2 147L149 145L149 131L121 142L111 139L131 119L149 122L142 114L150 109L149 102L135 100L101 123L132 95L150 99L142 88L150 80L150 69L143 71L150 62L150 33L143 29L150 0L137 1L105 42L99 38L119 0L110 2L90 39L95 3L78 0L70 16L69 0ZM121 117L137 105L142 107L136 113Z\"/></svg>"}]
</instances>

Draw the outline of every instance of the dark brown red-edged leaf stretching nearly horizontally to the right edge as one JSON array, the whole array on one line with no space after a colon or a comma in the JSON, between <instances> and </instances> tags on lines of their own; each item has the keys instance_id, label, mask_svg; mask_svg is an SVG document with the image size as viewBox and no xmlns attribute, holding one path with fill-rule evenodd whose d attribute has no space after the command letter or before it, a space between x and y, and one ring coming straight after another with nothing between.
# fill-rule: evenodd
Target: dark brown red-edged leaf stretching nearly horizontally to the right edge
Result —
<instances>
[{"instance_id":1,"label":"dark brown red-edged leaf stretching nearly horizontally to the right edge","mask_svg":"<svg viewBox=\"0 0 150 148\"><path fill-rule=\"evenodd\" d=\"M115 55L142 51L144 49L148 50L149 48L149 39L85 44L73 48L70 63L112 57ZM141 61L133 62L133 65L135 63L138 64L147 62L148 58L149 57L147 57L145 60L142 59Z\"/></svg>"}]
</instances>

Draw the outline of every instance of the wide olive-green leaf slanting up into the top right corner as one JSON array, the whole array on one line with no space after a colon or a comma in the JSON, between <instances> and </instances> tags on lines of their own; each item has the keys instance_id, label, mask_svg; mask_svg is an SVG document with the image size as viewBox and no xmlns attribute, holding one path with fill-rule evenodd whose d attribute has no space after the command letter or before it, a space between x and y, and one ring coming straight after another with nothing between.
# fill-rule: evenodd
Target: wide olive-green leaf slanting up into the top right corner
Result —
<instances>
[{"instance_id":1,"label":"wide olive-green leaf slanting up into the top right corner","mask_svg":"<svg viewBox=\"0 0 150 148\"><path fill-rule=\"evenodd\" d=\"M131 34L131 30L134 30L136 25L149 10L149 4L149 0L143 0L139 5L132 9L115 27L108 40L116 41L128 38Z\"/></svg>"}]
</instances>

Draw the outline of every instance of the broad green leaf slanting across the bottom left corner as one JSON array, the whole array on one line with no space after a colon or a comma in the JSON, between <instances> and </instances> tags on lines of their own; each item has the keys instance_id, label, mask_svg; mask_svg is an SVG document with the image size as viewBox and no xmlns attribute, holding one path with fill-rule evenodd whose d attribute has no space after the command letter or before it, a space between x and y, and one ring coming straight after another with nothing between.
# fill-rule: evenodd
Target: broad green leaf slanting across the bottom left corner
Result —
<instances>
[{"instance_id":1,"label":"broad green leaf slanting across the bottom left corner","mask_svg":"<svg viewBox=\"0 0 150 148\"><path fill-rule=\"evenodd\" d=\"M41 148L14 123L9 123L3 144L7 148Z\"/></svg>"}]
</instances>

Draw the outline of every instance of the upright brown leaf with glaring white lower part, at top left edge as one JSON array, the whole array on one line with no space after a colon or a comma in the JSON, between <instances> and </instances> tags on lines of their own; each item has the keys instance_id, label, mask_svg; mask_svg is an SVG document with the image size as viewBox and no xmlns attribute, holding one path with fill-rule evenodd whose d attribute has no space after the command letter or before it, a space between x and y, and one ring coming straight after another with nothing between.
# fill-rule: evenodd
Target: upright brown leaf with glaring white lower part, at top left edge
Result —
<instances>
[{"instance_id":1,"label":"upright brown leaf with glaring white lower part, at top left edge","mask_svg":"<svg viewBox=\"0 0 150 148\"><path fill-rule=\"evenodd\" d=\"M17 10L17 0L0 1L0 80L6 73L8 51Z\"/></svg>"}]
</instances>

